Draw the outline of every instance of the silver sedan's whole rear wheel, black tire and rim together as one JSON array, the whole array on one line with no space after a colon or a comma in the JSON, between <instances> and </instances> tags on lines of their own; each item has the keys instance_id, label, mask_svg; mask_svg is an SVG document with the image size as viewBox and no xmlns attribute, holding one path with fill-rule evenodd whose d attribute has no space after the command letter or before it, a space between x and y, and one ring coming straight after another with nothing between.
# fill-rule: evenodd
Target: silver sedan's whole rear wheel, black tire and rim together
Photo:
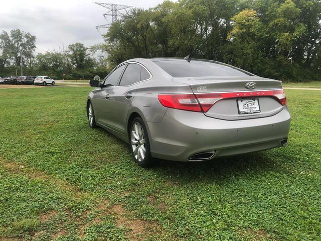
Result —
<instances>
[{"instance_id":1,"label":"silver sedan's whole rear wheel, black tire and rim together","mask_svg":"<svg viewBox=\"0 0 321 241\"><path fill-rule=\"evenodd\" d=\"M128 132L130 151L140 167L151 167L154 159L150 155L150 145L146 126L141 117L133 119Z\"/></svg>"}]
</instances>

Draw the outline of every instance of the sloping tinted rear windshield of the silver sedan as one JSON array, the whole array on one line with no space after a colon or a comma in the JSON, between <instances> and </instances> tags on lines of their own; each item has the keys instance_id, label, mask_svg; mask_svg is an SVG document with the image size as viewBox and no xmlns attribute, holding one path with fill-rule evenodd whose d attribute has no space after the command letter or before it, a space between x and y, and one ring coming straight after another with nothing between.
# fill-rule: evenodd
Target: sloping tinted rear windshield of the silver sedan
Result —
<instances>
[{"instance_id":1,"label":"sloping tinted rear windshield of the silver sedan","mask_svg":"<svg viewBox=\"0 0 321 241\"><path fill-rule=\"evenodd\" d=\"M173 77L202 77L202 76L251 76L245 71L204 60L164 60L155 61Z\"/></svg>"}]
</instances>

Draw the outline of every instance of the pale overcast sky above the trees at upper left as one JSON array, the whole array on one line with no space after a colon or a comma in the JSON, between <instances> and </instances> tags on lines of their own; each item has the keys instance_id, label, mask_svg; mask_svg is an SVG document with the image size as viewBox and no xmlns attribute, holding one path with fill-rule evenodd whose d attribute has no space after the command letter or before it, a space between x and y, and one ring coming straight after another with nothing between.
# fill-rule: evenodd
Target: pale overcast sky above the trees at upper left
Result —
<instances>
[{"instance_id":1,"label":"pale overcast sky above the trees at upper left","mask_svg":"<svg viewBox=\"0 0 321 241\"><path fill-rule=\"evenodd\" d=\"M89 47L103 42L95 26L107 22L108 10L94 2L148 9L163 0L0 0L0 31L20 29L37 37L36 53L80 42ZM101 29L104 32L104 29Z\"/></svg>"}]
</instances>

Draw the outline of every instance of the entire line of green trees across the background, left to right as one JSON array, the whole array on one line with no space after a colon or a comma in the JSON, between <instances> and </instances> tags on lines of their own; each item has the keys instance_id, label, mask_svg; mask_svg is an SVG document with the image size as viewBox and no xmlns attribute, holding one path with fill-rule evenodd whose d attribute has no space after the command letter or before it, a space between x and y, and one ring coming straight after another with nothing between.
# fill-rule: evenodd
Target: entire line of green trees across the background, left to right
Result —
<instances>
[{"instance_id":1,"label":"entire line of green trees across the background, left to right","mask_svg":"<svg viewBox=\"0 0 321 241\"><path fill-rule=\"evenodd\" d=\"M35 36L3 31L0 76L20 75L23 66L24 75L102 77L127 59L191 54L262 77L321 79L321 0L166 0L130 9L104 38L90 48L75 43L35 55ZM103 54L93 58L98 50Z\"/></svg>"}]
</instances>

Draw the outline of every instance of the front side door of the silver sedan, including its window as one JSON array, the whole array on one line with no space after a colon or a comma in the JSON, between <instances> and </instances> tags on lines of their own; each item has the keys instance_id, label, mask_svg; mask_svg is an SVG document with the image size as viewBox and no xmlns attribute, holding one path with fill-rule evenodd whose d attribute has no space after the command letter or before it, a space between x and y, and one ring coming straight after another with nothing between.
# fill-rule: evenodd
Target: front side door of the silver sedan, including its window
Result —
<instances>
[{"instance_id":1,"label":"front side door of the silver sedan, including its window","mask_svg":"<svg viewBox=\"0 0 321 241\"><path fill-rule=\"evenodd\" d=\"M126 64L116 67L111 73L107 75L102 83L101 88L94 90L94 98L92 104L94 108L96 122L108 128L112 128L112 114L116 108L112 106L110 95L114 93L117 88L119 78L125 68Z\"/></svg>"}]
</instances>

